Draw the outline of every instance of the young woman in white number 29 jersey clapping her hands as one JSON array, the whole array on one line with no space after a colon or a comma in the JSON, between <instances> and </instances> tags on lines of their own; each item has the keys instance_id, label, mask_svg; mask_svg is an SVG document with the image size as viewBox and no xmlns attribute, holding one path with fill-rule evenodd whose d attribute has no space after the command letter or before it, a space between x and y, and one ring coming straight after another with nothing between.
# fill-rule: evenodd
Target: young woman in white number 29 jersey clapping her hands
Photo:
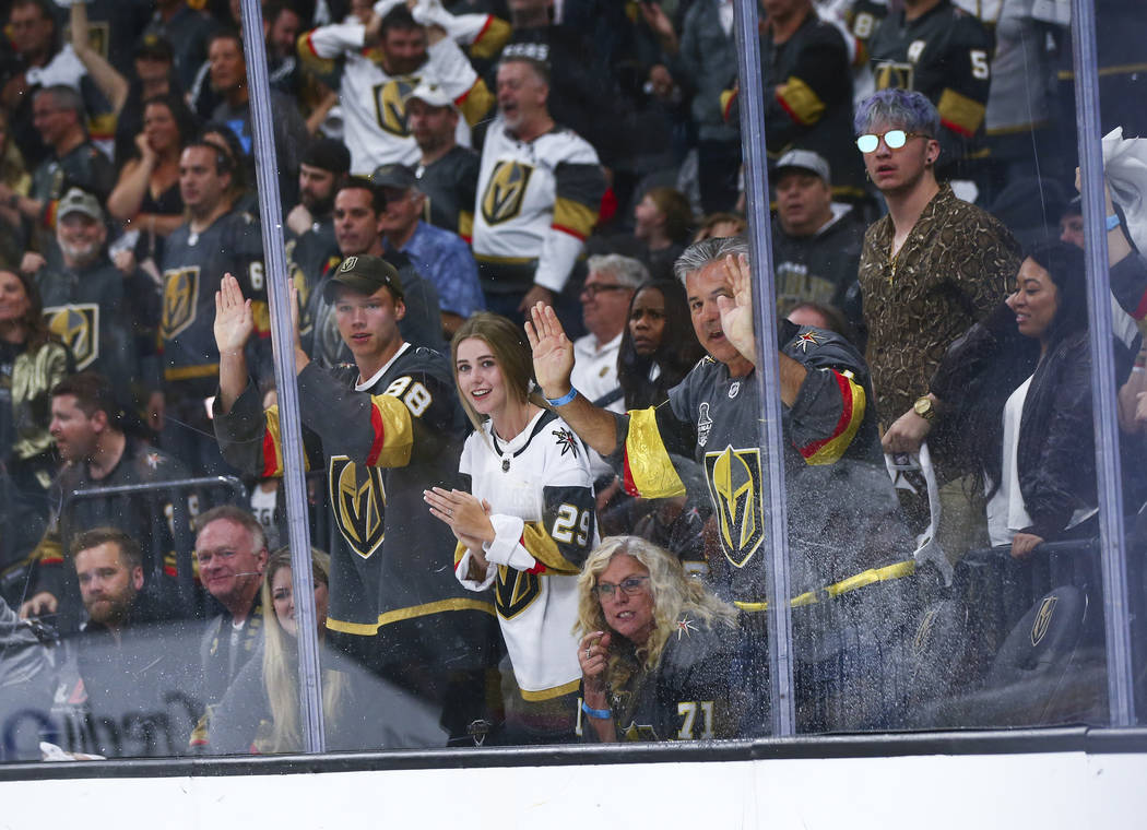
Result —
<instances>
[{"instance_id":1,"label":"young woman in white number 29 jersey clapping her hands","mask_svg":"<svg viewBox=\"0 0 1147 830\"><path fill-rule=\"evenodd\" d=\"M458 539L454 573L494 586L517 691L506 696L507 743L574 739L582 678L577 577L598 541L585 446L531 391L532 359L509 320L479 313L451 344L459 398L475 432L460 470L470 492L427 491Z\"/></svg>"}]
</instances>

